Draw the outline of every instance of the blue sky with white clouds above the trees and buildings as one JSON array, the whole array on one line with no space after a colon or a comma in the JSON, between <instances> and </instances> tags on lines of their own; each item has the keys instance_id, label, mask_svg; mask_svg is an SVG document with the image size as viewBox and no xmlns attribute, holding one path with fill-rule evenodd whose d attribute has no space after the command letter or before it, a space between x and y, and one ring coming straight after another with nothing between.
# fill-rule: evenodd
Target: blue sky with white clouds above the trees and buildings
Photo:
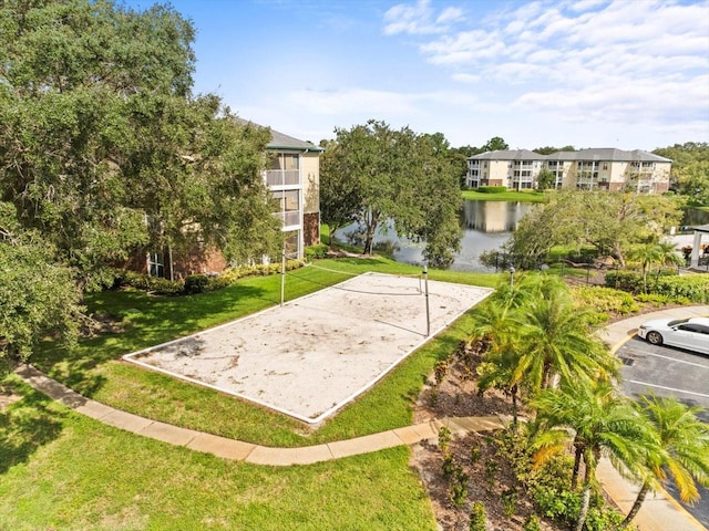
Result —
<instances>
[{"instance_id":1,"label":"blue sky with white clouds above the trees and buildings","mask_svg":"<svg viewBox=\"0 0 709 531\"><path fill-rule=\"evenodd\" d=\"M453 147L709 142L709 0L171 3L195 92L316 144L369 118Z\"/></svg>"}]
</instances>

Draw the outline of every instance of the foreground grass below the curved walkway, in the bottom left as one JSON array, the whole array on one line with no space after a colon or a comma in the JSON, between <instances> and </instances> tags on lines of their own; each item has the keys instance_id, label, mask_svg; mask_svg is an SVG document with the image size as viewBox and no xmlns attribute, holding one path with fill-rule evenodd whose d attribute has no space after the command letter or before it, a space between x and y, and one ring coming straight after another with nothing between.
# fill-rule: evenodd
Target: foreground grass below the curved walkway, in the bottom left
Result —
<instances>
[{"instance_id":1,"label":"foreground grass below the curved walkway, in the bottom left","mask_svg":"<svg viewBox=\"0 0 709 531\"><path fill-rule=\"evenodd\" d=\"M254 466L138 437L10 385L24 397L0 413L0 529L436 529L404 447Z\"/></svg>"}]
</instances>

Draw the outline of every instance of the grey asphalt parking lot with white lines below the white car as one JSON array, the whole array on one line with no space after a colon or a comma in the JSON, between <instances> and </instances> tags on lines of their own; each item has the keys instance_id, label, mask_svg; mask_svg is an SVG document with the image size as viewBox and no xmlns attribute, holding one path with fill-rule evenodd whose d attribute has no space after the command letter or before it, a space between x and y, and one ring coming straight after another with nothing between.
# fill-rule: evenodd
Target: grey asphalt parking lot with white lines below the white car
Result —
<instances>
[{"instance_id":1,"label":"grey asphalt parking lot with white lines below the white car","mask_svg":"<svg viewBox=\"0 0 709 531\"><path fill-rule=\"evenodd\" d=\"M623 391L627 396L675 396L685 404L703 407L699 417L709 424L709 356L650 345L637 336L618 348L617 355L623 362ZM679 499L674 487L667 490ZM684 507L709 529L709 490L700 487L699 492L701 500L693 508Z\"/></svg>"}]
</instances>

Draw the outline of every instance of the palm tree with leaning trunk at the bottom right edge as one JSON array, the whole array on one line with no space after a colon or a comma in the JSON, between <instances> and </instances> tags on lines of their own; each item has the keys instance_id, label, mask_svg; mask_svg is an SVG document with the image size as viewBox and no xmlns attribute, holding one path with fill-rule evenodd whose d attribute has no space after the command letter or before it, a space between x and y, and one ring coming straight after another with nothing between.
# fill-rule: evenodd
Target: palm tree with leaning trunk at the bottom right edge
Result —
<instances>
[{"instance_id":1,"label":"palm tree with leaning trunk at the bottom right edge","mask_svg":"<svg viewBox=\"0 0 709 531\"><path fill-rule=\"evenodd\" d=\"M697 418L702 408L686 406L674 397L658 398L654 395L641 396L637 405L653 425L660 451L646 456L650 475L643 482L621 529L636 517L647 492L658 482L667 481L668 472L684 502L693 503L699 499L695 480L709 487L709 426Z\"/></svg>"}]
</instances>

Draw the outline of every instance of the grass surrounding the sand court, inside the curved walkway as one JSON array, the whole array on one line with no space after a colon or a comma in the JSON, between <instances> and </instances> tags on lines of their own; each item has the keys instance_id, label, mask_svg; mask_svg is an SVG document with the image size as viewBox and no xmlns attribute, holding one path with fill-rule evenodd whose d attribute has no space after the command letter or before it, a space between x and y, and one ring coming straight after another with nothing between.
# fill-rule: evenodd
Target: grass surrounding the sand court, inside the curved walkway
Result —
<instances>
[{"instance_id":1,"label":"grass surrounding the sand court, inside the curved walkway","mask_svg":"<svg viewBox=\"0 0 709 531\"><path fill-rule=\"evenodd\" d=\"M287 277L292 299L349 278L330 270L413 274L420 268L383 258L323 260ZM325 268L325 269L322 269ZM499 277L452 271L430 272L432 280L494 285ZM284 415L167 375L120 361L120 356L188 335L278 303L280 278L255 277L217 292L183 298L137 291L93 294L92 312L122 320L125 331L84 340L72 352L51 343L32 357L38 368L74 391L136 415L265 446L308 446L369 435L411 423L412 404L435 362L466 336L470 316L419 348L372 391L346 406L318 430Z\"/></svg>"}]
</instances>

